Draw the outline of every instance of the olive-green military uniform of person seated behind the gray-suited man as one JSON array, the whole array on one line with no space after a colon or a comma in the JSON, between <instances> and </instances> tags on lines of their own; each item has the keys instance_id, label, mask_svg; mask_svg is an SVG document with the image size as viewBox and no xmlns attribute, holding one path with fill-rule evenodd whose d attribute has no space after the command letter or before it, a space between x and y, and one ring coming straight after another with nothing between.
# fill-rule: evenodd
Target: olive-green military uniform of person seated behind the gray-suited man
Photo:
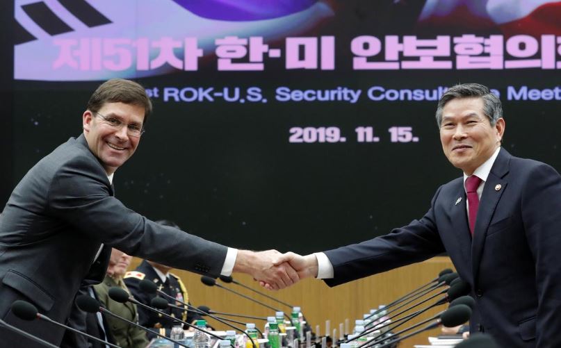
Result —
<instances>
[{"instance_id":1,"label":"olive-green military uniform of person seated behind the gray-suited man","mask_svg":"<svg viewBox=\"0 0 561 348\"><path fill-rule=\"evenodd\" d=\"M102 283L93 286L101 304L116 315L131 320L131 322L138 322L138 312L134 304L130 302L122 304L109 297L108 290L113 286L127 290L122 281L117 283L115 279L107 275ZM107 324L108 327L106 326L105 329L111 333L115 345L123 348L145 348L148 345L146 331L110 315L105 315L104 323Z\"/></svg>"}]
</instances>

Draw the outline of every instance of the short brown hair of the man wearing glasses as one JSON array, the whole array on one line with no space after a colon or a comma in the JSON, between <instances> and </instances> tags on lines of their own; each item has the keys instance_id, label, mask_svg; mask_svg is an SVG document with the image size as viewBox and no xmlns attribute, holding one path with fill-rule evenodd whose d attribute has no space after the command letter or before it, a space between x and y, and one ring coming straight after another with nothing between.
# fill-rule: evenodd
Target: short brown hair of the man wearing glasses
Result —
<instances>
[{"instance_id":1,"label":"short brown hair of the man wearing glasses","mask_svg":"<svg viewBox=\"0 0 561 348\"><path fill-rule=\"evenodd\" d=\"M92 113L97 113L105 103L126 103L143 107L143 126L152 113L152 101L143 86L124 78L111 78L111 80L101 83L93 92L86 108Z\"/></svg>"}]
</instances>

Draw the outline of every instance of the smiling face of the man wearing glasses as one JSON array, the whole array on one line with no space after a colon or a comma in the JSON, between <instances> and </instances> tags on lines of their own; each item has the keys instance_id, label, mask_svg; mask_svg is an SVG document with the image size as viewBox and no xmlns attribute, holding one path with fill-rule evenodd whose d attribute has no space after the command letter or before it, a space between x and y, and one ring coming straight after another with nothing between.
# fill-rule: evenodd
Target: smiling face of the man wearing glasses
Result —
<instances>
[{"instance_id":1,"label":"smiling face of the man wearing glasses","mask_svg":"<svg viewBox=\"0 0 561 348\"><path fill-rule=\"evenodd\" d=\"M115 118L124 125L115 128L90 110L83 113L83 131L88 147L99 159L108 175L113 174L136 151L140 137L127 134L127 124L142 127L145 109L126 103L105 103L97 113Z\"/></svg>"}]
</instances>

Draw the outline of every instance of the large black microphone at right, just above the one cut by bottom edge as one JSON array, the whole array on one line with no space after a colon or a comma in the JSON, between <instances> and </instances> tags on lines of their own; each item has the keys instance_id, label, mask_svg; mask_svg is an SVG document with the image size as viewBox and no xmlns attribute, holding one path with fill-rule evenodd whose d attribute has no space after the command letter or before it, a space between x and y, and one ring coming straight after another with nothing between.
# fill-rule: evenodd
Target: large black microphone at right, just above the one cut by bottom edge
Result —
<instances>
[{"instance_id":1,"label":"large black microphone at right, just above the one cut by bottom edge","mask_svg":"<svg viewBox=\"0 0 561 348\"><path fill-rule=\"evenodd\" d=\"M416 335L417 333L421 333L423 331L427 331L427 330L437 328L438 326L453 327L453 326L458 326L458 325L464 324L464 322L467 322L469 320L469 317L471 317L471 308L469 308L465 304L458 304L456 306L453 306L452 308L448 308L444 312L437 315L437 317L438 317L437 320L434 320L435 318L431 317L428 320L425 320L425 321L420 322L418 324L414 324L413 326L411 326L407 329L403 329L402 331L398 331L396 333L393 333L392 335L388 336L387 338L382 338L381 340L374 340L373 342L367 342L364 345L359 346L359 348L371 347L373 345L378 345L378 344L380 344L381 342L384 342L384 341L386 341L386 343L383 343L382 345L377 346L377 348L388 347L390 345L396 344L397 342L405 340L405 338L409 338L409 337L411 337L413 335ZM388 338L395 337L396 335L399 335L400 333L404 333L405 331L412 330L412 329L414 329L418 326L421 326L422 324L426 324L427 322L430 322L431 320L434 320L434 322L428 324L427 326L425 326L421 329L413 331L412 333L408 333L407 335L404 335L400 338L397 338L396 340L389 340L389 342L387 341Z\"/></svg>"}]
</instances>

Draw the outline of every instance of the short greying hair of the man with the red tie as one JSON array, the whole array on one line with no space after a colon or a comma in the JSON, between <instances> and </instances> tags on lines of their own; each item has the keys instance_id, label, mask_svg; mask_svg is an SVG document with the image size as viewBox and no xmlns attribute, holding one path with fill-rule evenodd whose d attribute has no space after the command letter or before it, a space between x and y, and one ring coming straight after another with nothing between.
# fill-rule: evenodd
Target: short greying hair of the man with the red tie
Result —
<instances>
[{"instance_id":1,"label":"short greying hair of the man with the red tie","mask_svg":"<svg viewBox=\"0 0 561 348\"><path fill-rule=\"evenodd\" d=\"M489 88L479 83L462 83L461 85L455 85L440 98L437 106L437 125L440 126L442 122L442 109L448 103L448 101L457 98L481 98L483 99L483 113L487 118L489 118L489 123L494 126L498 119L503 117L503 106L501 106L501 100L491 93Z\"/></svg>"}]
</instances>

